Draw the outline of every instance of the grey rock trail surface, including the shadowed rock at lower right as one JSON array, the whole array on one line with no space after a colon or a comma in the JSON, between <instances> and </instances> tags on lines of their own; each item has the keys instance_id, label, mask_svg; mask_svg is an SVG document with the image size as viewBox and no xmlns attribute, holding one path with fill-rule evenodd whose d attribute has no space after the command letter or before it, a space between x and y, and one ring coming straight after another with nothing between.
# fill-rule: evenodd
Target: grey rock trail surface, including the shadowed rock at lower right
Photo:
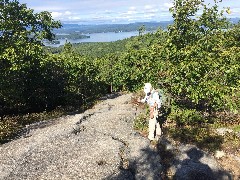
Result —
<instances>
[{"instance_id":1,"label":"grey rock trail surface, including the shadowed rock at lower right","mask_svg":"<svg viewBox=\"0 0 240 180\"><path fill-rule=\"evenodd\" d=\"M131 104L131 97L109 95L82 114L26 127L20 138L0 146L0 179L163 179L161 153L133 129L140 110ZM159 146L174 149L164 139ZM177 152L181 152L173 166L177 179L231 179L195 147Z\"/></svg>"}]
</instances>

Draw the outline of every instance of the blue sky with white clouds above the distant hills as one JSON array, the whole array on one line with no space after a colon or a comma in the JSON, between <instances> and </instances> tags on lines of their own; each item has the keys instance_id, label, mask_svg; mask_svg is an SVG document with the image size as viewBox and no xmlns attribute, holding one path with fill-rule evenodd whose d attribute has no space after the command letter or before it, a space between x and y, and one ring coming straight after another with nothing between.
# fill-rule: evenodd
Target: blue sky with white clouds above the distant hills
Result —
<instances>
[{"instance_id":1,"label":"blue sky with white clouds above the distant hills","mask_svg":"<svg viewBox=\"0 0 240 180\"><path fill-rule=\"evenodd\" d=\"M49 11L65 23L100 24L167 21L172 0L19 0L35 12ZM205 0L205 3L213 0ZM240 0L223 0L230 7L227 17L240 17Z\"/></svg>"}]
</instances>

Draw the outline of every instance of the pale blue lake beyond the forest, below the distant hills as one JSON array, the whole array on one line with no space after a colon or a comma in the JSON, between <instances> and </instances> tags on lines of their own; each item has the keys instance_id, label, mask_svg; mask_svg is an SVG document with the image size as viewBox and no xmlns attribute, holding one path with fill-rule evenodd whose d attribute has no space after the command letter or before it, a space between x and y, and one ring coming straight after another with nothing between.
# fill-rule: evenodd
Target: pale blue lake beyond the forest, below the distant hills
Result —
<instances>
[{"instance_id":1,"label":"pale blue lake beyond the forest, below the distant hills","mask_svg":"<svg viewBox=\"0 0 240 180\"><path fill-rule=\"evenodd\" d=\"M92 33L92 34L86 34L87 36L90 36L90 38L86 39L59 39L60 44L51 44L48 46L52 47L58 47L61 45L64 45L67 42L70 43L81 43L81 42L112 42L117 40L122 40L125 38L129 38L132 36L137 36L138 31L131 31L131 32L108 32L108 33Z\"/></svg>"}]
</instances>

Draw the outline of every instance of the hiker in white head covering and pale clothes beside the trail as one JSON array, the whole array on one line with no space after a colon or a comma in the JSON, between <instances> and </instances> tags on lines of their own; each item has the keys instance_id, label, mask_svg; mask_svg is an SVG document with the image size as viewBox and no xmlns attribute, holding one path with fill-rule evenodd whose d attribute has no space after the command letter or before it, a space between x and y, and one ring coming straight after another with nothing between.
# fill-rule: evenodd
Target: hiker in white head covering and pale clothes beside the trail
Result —
<instances>
[{"instance_id":1,"label":"hiker in white head covering and pale clothes beside the trail","mask_svg":"<svg viewBox=\"0 0 240 180\"><path fill-rule=\"evenodd\" d=\"M141 100L142 103L148 103L150 108L149 118L149 134L148 139L151 141L158 141L162 134L160 123L157 121L158 109L161 107L161 99L158 91L155 91L150 83L145 83L144 86L145 97Z\"/></svg>"}]
</instances>

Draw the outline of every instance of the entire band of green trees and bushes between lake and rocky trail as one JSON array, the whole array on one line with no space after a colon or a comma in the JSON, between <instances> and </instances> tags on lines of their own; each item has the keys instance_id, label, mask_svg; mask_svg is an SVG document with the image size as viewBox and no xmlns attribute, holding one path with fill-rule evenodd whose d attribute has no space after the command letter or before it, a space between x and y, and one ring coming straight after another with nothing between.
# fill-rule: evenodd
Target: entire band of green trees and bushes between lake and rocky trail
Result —
<instances>
[{"instance_id":1,"label":"entire band of green trees and bushes between lake and rocky trail","mask_svg":"<svg viewBox=\"0 0 240 180\"><path fill-rule=\"evenodd\" d=\"M17 0L1 1L0 116L88 106L110 88L136 91L145 82L171 94L178 125L206 122L203 113L238 113L240 26L218 3L174 0L166 31L144 34L142 26L140 36L123 41L43 50L41 41L53 39L60 23ZM140 118L136 126L145 125Z\"/></svg>"}]
</instances>

